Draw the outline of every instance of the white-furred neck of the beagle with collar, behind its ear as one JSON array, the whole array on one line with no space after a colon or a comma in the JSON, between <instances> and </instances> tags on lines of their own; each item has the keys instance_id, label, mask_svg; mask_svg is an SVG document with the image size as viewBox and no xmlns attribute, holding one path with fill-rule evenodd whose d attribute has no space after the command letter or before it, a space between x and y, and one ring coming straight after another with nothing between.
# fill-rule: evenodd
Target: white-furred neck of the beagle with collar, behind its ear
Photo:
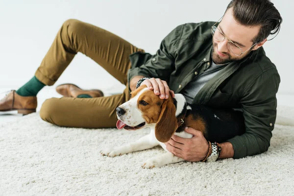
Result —
<instances>
[{"instance_id":1,"label":"white-furred neck of the beagle with collar, behind its ear","mask_svg":"<svg viewBox=\"0 0 294 196\"><path fill-rule=\"evenodd\" d=\"M177 119L179 128L184 123L184 119L187 113L186 99L182 94L175 94L175 97L173 98L173 104L176 108L175 117Z\"/></svg>"}]
</instances>

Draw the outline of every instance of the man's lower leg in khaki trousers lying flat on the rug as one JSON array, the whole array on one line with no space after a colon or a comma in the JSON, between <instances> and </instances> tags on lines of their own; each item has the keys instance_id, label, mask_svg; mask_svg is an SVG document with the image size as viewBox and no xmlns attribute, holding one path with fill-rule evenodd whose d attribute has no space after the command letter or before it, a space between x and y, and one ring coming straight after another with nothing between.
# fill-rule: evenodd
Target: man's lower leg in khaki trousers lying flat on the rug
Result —
<instances>
[{"instance_id":1,"label":"man's lower leg in khaki trousers lying flat on the rug","mask_svg":"<svg viewBox=\"0 0 294 196\"><path fill-rule=\"evenodd\" d=\"M58 126L82 128L115 127L116 108L129 100L129 90L123 94L100 98L49 98L41 108L40 116Z\"/></svg>"}]
</instances>

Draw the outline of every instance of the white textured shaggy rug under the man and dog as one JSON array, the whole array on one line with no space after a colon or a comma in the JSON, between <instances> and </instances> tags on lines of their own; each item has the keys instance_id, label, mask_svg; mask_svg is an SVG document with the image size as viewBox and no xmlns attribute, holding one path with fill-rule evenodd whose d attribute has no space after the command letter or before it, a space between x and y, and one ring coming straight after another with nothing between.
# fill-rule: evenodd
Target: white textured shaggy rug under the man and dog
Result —
<instances>
[{"instance_id":1,"label":"white textured shaggy rug under the man and dog","mask_svg":"<svg viewBox=\"0 0 294 196\"><path fill-rule=\"evenodd\" d=\"M279 114L294 116L294 109ZM135 141L148 130L64 128L38 113L0 125L0 195L293 195L294 127L276 125L263 154L214 163L142 169L155 147L119 157L99 150Z\"/></svg>"}]
</instances>

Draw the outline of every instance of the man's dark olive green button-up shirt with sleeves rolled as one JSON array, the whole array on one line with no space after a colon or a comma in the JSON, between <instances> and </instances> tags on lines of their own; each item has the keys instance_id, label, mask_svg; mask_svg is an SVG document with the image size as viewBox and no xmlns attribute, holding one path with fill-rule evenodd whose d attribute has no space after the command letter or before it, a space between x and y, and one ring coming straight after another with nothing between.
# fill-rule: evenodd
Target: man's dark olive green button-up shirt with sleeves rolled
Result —
<instances>
[{"instance_id":1,"label":"man's dark olive green button-up shirt with sleeves rolled","mask_svg":"<svg viewBox=\"0 0 294 196\"><path fill-rule=\"evenodd\" d=\"M128 82L136 75L160 78L167 81L175 93L181 93L210 66L214 24L179 25L164 38L156 54L131 54ZM261 47L244 59L229 63L201 88L193 103L242 108L245 134L228 140L233 145L234 158L260 154L270 147L279 83L277 69Z\"/></svg>"}]
</instances>

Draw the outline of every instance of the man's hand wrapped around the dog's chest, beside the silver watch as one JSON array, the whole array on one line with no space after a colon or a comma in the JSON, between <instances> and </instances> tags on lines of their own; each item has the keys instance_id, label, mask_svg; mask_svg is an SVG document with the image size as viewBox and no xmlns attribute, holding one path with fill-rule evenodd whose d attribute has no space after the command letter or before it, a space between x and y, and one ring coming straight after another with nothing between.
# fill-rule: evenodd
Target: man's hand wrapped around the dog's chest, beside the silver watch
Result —
<instances>
[{"instance_id":1,"label":"man's hand wrapped around the dog's chest, beside the silver watch","mask_svg":"<svg viewBox=\"0 0 294 196\"><path fill-rule=\"evenodd\" d=\"M177 157L186 161L202 161L207 155L209 144L200 131L186 127L185 131L193 135L186 139L172 135L172 139L166 144L167 149Z\"/></svg>"}]
</instances>

